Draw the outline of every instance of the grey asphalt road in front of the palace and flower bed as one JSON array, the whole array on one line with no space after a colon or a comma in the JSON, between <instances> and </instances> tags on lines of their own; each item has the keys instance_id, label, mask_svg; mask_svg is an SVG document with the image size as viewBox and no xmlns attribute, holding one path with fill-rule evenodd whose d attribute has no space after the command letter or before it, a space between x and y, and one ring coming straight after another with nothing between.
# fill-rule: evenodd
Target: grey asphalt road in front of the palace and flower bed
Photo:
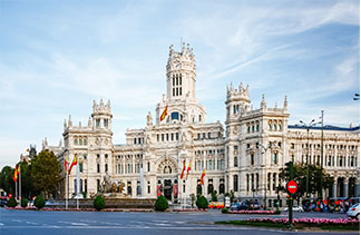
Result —
<instances>
[{"instance_id":1,"label":"grey asphalt road in front of the palace and flower bed","mask_svg":"<svg viewBox=\"0 0 361 235\"><path fill-rule=\"evenodd\" d=\"M286 217L286 213L276 217ZM0 208L0 234L294 234L295 232L214 225L216 221L267 217L260 215L223 215L207 213L107 213L107 212L37 212ZM275 216L270 216L275 217ZM347 217L344 214L295 213L295 217ZM296 234L310 234L299 232ZM325 233L313 233L325 234ZM345 234L345 233L332 233ZM350 233L354 234L354 233Z\"/></svg>"}]
</instances>

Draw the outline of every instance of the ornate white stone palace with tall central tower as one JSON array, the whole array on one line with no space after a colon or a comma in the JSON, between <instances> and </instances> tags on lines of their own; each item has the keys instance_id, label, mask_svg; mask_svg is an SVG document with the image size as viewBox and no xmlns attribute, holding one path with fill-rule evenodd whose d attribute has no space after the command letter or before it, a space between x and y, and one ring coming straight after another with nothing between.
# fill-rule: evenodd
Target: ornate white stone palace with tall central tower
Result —
<instances>
[{"instance_id":1,"label":"ornate white stone palace with tall central tower","mask_svg":"<svg viewBox=\"0 0 361 235\"><path fill-rule=\"evenodd\" d=\"M127 129L126 144L113 144L110 101L94 101L88 124L64 124L64 146L48 146L61 163L79 156L80 187L96 194L108 174L126 184L131 197L156 197L159 189L169 200L189 198L213 189L222 196L234 190L242 198L257 198L273 204L280 168L293 158L320 164L321 128L289 125L287 99L283 107L270 108L264 96L258 109L252 109L248 86L227 87L225 130L217 123L205 123L206 111L196 98L196 62L193 49L183 45L169 48L166 66L167 94L150 112L143 129ZM167 107L167 116L160 121ZM359 196L360 128L325 126L323 167L334 177L328 196ZM308 148L310 146L310 148ZM180 179L186 163L189 176ZM64 164L62 164L64 165ZM143 182L140 183L140 168ZM205 169L204 186L199 185ZM76 170L71 172L69 192L75 192ZM143 192L139 190L143 184ZM62 184L62 192L64 192ZM283 195L284 196L284 195Z\"/></svg>"}]
</instances>

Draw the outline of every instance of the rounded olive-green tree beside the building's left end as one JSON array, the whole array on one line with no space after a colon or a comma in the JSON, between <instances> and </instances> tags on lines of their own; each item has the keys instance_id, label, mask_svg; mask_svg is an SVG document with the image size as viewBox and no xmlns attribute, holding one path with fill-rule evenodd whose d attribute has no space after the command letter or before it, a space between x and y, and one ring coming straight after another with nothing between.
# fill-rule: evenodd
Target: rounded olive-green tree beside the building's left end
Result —
<instances>
[{"instance_id":1,"label":"rounded olive-green tree beside the building's left end","mask_svg":"<svg viewBox=\"0 0 361 235\"><path fill-rule=\"evenodd\" d=\"M61 180L61 166L52 151L43 150L31 159L31 179L36 192L48 197Z\"/></svg>"}]
</instances>

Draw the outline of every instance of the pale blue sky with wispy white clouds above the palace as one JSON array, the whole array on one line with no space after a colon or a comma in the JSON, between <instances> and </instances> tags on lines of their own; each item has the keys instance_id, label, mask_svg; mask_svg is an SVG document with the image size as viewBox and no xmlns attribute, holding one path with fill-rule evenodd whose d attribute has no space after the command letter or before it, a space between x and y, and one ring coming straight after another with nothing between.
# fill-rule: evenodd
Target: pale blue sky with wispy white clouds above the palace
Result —
<instances>
[{"instance_id":1,"label":"pale blue sky with wispy white clouds above the palace","mask_svg":"<svg viewBox=\"0 0 361 235\"><path fill-rule=\"evenodd\" d=\"M255 3L256 2L256 3ZM272 3L272 4L271 4ZM114 144L142 128L166 90L168 47L194 48L206 121L225 120L226 85L254 108L289 97L290 124L325 111L359 125L359 1L0 0L0 167L29 144L58 145L64 119L111 100Z\"/></svg>"}]
</instances>

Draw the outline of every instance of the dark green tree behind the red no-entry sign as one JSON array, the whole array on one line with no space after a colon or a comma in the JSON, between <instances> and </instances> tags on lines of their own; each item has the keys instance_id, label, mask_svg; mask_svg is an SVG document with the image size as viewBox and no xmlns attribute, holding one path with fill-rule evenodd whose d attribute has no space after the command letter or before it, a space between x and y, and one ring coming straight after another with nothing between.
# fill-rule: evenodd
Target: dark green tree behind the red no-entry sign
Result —
<instances>
[{"instance_id":1,"label":"dark green tree behind the red no-entry sign","mask_svg":"<svg viewBox=\"0 0 361 235\"><path fill-rule=\"evenodd\" d=\"M306 194L306 175L308 166L305 164L294 164L294 180L297 183L297 192L295 193L295 198L299 200L302 195ZM310 193L321 196L321 180L323 180L323 187L330 187L334 179L330 174L325 173L324 169L321 169L319 165L309 165L310 169ZM285 182L290 180L290 177L286 174L286 169L282 168L281 178Z\"/></svg>"}]
</instances>

